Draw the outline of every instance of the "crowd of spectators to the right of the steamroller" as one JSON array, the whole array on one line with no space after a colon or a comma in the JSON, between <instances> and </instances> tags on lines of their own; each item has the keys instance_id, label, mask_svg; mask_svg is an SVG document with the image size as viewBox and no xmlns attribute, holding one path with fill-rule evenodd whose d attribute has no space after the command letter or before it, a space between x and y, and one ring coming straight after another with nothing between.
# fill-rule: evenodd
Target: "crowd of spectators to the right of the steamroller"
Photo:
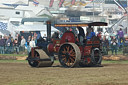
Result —
<instances>
[{"instance_id":1,"label":"crowd of spectators to the right of the steamroller","mask_svg":"<svg viewBox=\"0 0 128 85\"><path fill-rule=\"evenodd\" d=\"M124 32L120 28L120 30L117 33L114 33L109 35L108 38L106 36L103 36L102 41L102 47L104 54L108 54L108 51L110 50L112 55L118 54L118 51L123 50L124 46L128 43L127 37L124 37Z\"/></svg>"}]
</instances>

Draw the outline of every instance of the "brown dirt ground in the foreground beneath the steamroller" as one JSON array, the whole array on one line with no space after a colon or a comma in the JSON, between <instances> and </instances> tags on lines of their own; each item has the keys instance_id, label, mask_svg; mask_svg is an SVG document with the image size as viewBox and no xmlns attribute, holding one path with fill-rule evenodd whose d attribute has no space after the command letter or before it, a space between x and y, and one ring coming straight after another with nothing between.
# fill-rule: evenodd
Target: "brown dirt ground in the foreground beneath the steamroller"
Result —
<instances>
[{"instance_id":1,"label":"brown dirt ground in the foreground beneath the steamroller","mask_svg":"<svg viewBox=\"0 0 128 85\"><path fill-rule=\"evenodd\" d=\"M128 85L128 64L32 68L27 63L0 63L0 85Z\"/></svg>"}]
</instances>

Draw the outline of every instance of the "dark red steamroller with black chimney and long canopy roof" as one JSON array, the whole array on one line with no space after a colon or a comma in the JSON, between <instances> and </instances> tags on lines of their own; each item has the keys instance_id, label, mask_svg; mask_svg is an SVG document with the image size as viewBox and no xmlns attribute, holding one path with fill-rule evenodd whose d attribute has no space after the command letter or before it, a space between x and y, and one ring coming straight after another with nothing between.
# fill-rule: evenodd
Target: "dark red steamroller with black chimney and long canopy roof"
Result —
<instances>
[{"instance_id":1,"label":"dark red steamroller with black chimney and long canopy roof","mask_svg":"<svg viewBox=\"0 0 128 85\"><path fill-rule=\"evenodd\" d=\"M61 23L55 27L84 27L107 26L104 22L91 23ZM28 55L28 63L32 67L52 66L54 54L58 55L63 67L96 66L102 61L101 41L94 36L81 44L74 32L66 31L61 39L51 38L51 23L47 21L47 40L38 41L38 47L31 49Z\"/></svg>"}]
</instances>

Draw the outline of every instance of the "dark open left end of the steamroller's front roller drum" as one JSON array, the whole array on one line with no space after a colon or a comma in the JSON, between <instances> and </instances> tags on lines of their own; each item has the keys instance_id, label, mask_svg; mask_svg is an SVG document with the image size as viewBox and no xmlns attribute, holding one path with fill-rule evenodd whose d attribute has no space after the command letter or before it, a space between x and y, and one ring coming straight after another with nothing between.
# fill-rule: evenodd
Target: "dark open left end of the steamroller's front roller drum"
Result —
<instances>
[{"instance_id":1,"label":"dark open left end of the steamroller's front roller drum","mask_svg":"<svg viewBox=\"0 0 128 85\"><path fill-rule=\"evenodd\" d=\"M31 57L31 52L29 53L29 58L32 59ZM39 53L37 51L34 52L34 58L38 58L39 59ZM38 60L28 60L28 63L31 67L38 67L39 61Z\"/></svg>"}]
</instances>

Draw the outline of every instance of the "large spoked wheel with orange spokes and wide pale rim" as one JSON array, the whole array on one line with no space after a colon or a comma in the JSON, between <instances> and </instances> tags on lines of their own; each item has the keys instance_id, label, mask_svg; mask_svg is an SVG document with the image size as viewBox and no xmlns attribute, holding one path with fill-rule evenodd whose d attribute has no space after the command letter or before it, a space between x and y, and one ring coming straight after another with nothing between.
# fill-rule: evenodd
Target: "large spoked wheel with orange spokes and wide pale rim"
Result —
<instances>
[{"instance_id":1,"label":"large spoked wheel with orange spokes and wide pale rim","mask_svg":"<svg viewBox=\"0 0 128 85\"><path fill-rule=\"evenodd\" d=\"M81 53L79 47L74 43L66 43L60 47L58 55L60 64L72 68L79 66Z\"/></svg>"}]
</instances>

